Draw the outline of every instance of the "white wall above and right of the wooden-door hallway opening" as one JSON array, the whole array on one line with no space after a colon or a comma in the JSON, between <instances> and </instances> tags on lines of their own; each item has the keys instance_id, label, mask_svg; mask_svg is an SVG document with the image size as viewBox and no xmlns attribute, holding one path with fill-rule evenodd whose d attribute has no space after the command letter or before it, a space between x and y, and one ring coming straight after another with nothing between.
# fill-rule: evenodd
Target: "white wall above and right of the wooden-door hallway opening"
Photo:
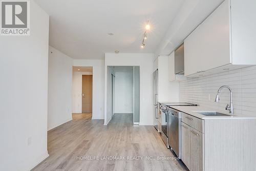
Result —
<instances>
[{"instance_id":1,"label":"white wall above and right of the wooden-door hallway opening","mask_svg":"<svg viewBox=\"0 0 256 171\"><path fill-rule=\"evenodd\" d=\"M74 59L73 65L93 67L92 119L104 119L104 60Z\"/></svg>"}]
</instances>

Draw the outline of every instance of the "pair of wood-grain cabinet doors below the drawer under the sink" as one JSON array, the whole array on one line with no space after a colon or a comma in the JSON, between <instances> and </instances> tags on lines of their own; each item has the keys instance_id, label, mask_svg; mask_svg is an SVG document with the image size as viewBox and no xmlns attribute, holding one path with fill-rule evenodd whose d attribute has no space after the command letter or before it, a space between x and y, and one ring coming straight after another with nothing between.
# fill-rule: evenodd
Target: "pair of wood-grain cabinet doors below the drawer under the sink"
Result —
<instances>
[{"instance_id":1,"label":"pair of wood-grain cabinet doors below the drawer under the sink","mask_svg":"<svg viewBox=\"0 0 256 171\"><path fill-rule=\"evenodd\" d=\"M182 122L182 161L190 171L203 171L204 134Z\"/></svg>"}]
</instances>

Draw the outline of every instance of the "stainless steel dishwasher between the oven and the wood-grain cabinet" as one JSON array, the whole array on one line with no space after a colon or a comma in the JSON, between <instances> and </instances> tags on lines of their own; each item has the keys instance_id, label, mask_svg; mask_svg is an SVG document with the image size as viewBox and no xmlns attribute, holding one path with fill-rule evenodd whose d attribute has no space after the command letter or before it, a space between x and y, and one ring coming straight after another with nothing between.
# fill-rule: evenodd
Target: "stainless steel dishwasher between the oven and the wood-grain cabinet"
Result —
<instances>
[{"instance_id":1,"label":"stainless steel dishwasher between the oven and the wood-grain cabinet","mask_svg":"<svg viewBox=\"0 0 256 171\"><path fill-rule=\"evenodd\" d=\"M168 144L181 159L181 112L168 108Z\"/></svg>"}]
</instances>

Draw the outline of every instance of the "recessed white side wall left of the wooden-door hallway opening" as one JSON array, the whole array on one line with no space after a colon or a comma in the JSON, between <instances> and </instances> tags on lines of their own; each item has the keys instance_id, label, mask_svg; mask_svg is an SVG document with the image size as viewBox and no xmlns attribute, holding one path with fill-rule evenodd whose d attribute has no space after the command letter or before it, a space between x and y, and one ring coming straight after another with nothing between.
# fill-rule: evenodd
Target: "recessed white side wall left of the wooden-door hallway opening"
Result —
<instances>
[{"instance_id":1,"label":"recessed white side wall left of the wooden-door hallway opening","mask_svg":"<svg viewBox=\"0 0 256 171\"><path fill-rule=\"evenodd\" d=\"M73 59L49 47L48 130L72 120Z\"/></svg>"}]
</instances>

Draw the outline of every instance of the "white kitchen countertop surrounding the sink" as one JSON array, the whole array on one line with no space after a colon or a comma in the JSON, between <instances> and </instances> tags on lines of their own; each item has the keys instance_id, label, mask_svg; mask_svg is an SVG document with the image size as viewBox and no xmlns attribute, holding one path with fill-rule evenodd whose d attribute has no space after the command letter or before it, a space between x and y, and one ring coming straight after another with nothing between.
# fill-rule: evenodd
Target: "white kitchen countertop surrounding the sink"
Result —
<instances>
[{"instance_id":1,"label":"white kitchen countertop surrounding the sink","mask_svg":"<svg viewBox=\"0 0 256 171\"><path fill-rule=\"evenodd\" d=\"M195 116L200 119L256 119L256 116L243 116L243 115L230 115L226 111L218 111L215 109L206 108L203 106L171 106L171 108L181 111L183 113L189 114L191 116ZM216 111L219 113L226 114L228 116L205 116L194 111Z\"/></svg>"}]
</instances>

